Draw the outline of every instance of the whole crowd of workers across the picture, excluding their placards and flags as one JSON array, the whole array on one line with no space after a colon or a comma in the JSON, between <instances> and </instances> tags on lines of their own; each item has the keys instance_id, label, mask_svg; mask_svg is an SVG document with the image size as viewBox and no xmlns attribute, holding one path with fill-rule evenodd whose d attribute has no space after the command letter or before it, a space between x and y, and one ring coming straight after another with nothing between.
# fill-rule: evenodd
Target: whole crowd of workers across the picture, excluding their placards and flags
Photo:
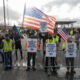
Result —
<instances>
[{"instance_id":1,"label":"whole crowd of workers across the picture, excluding their placards and flags","mask_svg":"<svg viewBox=\"0 0 80 80\"><path fill-rule=\"evenodd\" d=\"M46 57L46 43L56 43L56 50L59 49L59 45L61 43L61 37L58 34L41 34L39 31L35 32L35 30L28 30L27 32L28 34L28 38L30 39L37 39L37 49L40 49L40 41L41 39L43 39L43 62L45 63L45 72L47 72L48 70L48 61L49 61L49 57ZM75 35L75 40L79 40L79 36L78 36L78 32L76 32ZM66 42L63 42L62 44L62 50L65 52L65 48L66 48L66 44L67 43L76 43L78 48L79 48L79 41L74 41L73 40L73 32L70 32L70 35L67 39ZM22 45L21 45L21 39L23 37L18 35L18 32L13 31L13 30L8 30L8 31L1 31L0 30L0 54L2 56L2 62L4 63L4 69L8 70L8 69L12 69L13 68L13 64L12 64L12 51L15 48L15 55L16 55L16 60L18 60L18 54L17 54L17 50L20 50L20 57L21 60L24 59L23 57L23 52L22 52ZM27 41L25 44L25 50L27 50ZM27 69L26 71L30 71L31 69L31 58L32 58L32 69L36 70L35 68L35 61L36 61L36 53L37 52L27 52ZM57 56L56 56L57 57ZM50 61L51 61L51 66L52 66L52 71L57 73L57 69L55 67L56 64L58 64L56 62L56 57L51 57ZM44 60L45 59L45 60ZM66 58L66 66L67 66L67 71L66 72L70 72L70 68L71 68L71 72L75 73L74 70L74 57L72 58Z\"/></svg>"}]
</instances>

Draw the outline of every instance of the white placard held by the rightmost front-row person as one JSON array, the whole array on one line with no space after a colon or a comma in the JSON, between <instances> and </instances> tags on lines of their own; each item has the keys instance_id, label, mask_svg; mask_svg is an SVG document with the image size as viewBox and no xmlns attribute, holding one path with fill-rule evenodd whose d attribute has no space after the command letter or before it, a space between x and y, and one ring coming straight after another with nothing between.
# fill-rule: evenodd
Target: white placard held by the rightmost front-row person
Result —
<instances>
[{"instance_id":1,"label":"white placard held by the rightmost front-row person","mask_svg":"<svg viewBox=\"0 0 80 80\"><path fill-rule=\"evenodd\" d=\"M76 57L76 44L75 43L66 44L66 57Z\"/></svg>"}]
</instances>

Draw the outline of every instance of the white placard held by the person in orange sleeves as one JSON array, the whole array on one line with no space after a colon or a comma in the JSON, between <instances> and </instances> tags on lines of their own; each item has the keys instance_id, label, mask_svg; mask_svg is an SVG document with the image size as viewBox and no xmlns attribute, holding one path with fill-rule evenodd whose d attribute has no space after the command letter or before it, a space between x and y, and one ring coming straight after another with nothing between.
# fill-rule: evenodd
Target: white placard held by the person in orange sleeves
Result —
<instances>
[{"instance_id":1,"label":"white placard held by the person in orange sleeves","mask_svg":"<svg viewBox=\"0 0 80 80\"><path fill-rule=\"evenodd\" d=\"M28 39L27 52L37 52L37 39Z\"/></svg>"}]
</instances>

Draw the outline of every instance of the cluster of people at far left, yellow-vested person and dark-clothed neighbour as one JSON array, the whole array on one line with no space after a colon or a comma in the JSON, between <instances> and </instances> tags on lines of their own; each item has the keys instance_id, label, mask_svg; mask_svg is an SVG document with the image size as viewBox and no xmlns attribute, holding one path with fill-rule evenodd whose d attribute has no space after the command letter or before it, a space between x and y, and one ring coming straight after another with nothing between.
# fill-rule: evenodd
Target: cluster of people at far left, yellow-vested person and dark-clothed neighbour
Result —
<instances>
[{"instance_id":1,"label":"cluster of people at far left, yellow-vested person and dark-clothed neighbour","mask_svg":"<svg viewBox=\"0 0 80 80\"><path fill-rule=\"evenodd\" d=\"M21 46L21 36L13 30L5 31L4 36L2 32L0 33L0 54L2 56L2 62L4 63L4 69L12 69L12 51L15 48L16 60L18 60L17 50L20 50L21 59L22 55L22 46Z\"/></svg>"}]
</instances>

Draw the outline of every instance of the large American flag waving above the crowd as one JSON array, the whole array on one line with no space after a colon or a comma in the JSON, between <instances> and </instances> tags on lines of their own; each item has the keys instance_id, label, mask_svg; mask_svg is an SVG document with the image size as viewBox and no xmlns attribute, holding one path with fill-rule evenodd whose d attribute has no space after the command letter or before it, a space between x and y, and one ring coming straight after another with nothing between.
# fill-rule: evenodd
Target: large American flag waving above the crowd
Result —
<instances>
[{"instance_id":1,"label":"large American flag waving above the crowd","mask_svg":"<svg viewBox=\"0 0 80 80\"><path fill-rule=\"evenodd\" d=\"M46 21L48 24L47 32L53 34L54 25L56 22L56 19L54 17L46 15L37 8L26 9L23 22L24 27L40 30L40 22L42 21Z\"/></svg>"}]
</instances>

